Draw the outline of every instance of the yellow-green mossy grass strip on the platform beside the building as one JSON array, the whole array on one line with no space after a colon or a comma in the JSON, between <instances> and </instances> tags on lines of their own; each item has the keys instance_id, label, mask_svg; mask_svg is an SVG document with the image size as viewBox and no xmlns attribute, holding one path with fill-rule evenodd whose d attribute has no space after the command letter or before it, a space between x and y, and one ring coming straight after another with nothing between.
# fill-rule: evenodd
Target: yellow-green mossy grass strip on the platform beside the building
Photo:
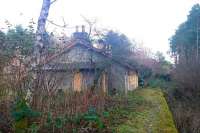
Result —
<instances>
[{"instance_id":1,"label":"yellow-green mossy grass strip on the platform beside the building","mask_svg":"<svg viewBox=\"0 0 200 133\"><path fill-rule=\"evenodd\" d=\"M117 133L178 133L160 89L138 89L129 93L128 101L110 113Z\"/></svg>"}]
</instances>

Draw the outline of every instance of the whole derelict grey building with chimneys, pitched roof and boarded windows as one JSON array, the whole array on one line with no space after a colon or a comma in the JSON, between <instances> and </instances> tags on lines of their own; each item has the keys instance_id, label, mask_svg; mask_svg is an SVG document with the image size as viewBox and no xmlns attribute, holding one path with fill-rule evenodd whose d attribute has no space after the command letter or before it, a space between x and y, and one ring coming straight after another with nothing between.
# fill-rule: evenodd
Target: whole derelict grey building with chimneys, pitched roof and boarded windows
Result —
<instances>
[{"instance_id":1,"label":"whole derelict grey building with chimneys, pitched roof and boarded windows","mask_svg":"<svg viewBox=\"0 0 200 133\"><path fill-rule=\"evenodd\" d=\"M62 75L60 88L81 91L100 88L127 92L138 87L137 70L112 58L108 50L94 47L84 26L73 33L68 45L48 59L43 70L53 76Z\"/></svg>"}]
</instances>

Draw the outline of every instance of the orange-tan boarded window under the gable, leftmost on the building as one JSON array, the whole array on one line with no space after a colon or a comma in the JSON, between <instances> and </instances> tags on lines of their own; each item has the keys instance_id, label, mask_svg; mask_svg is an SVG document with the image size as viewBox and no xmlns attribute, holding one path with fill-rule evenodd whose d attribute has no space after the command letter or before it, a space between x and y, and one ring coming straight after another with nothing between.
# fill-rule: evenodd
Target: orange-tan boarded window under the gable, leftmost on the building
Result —
<instances>
[{"instance_id":1,"label":"orange-tan boarded window under the gable, leftmost on the building","mask_svg":"<svg viewBox=\"0 0 200 133\"><path fill-rule=\"evenodd\" d=\"M74 81L73 81L73 86L74 86L74 91L81 91L81 87L82 87L82 73L81 72L77 72L74 74Z\"/></svg>"}]
</instances>

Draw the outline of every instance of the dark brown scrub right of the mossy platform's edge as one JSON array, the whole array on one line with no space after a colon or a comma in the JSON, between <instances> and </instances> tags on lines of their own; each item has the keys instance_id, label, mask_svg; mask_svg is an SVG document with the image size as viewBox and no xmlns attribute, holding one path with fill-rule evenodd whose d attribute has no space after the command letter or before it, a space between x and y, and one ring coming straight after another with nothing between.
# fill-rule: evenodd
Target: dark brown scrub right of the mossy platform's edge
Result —
<instances>
[{"instance_id":1,"label":"dark brown scrub right of the mossy platform's edge","mask_svg":"<svg viewBox=\"0 0 200 133\"><path fill-rule=\"evenodd\" d=\"M172 111L174 121L180 133L200 132L199 98L187 98L174 89L166 93L166 99Z\"/></svg>"}]
</instances>

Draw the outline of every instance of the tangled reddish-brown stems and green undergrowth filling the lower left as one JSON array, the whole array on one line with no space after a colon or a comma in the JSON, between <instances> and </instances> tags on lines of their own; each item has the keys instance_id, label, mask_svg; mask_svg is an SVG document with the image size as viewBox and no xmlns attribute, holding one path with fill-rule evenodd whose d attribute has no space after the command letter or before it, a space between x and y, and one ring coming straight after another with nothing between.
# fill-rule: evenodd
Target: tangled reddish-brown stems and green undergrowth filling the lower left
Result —
<instances>
[{"instance_id":1,"label":"tangled reddish-brown stems and green undergrowth filling the lower left","mask_svg":"<svg viewBox=\"0 0 200 133\"><path fill-rule=\"evenodd\" d=\"M1 76L1 132L110 132L106 108L115 104L103 91L60 89L63 75L20 72Z\"/></svg>"}]
</instances>

